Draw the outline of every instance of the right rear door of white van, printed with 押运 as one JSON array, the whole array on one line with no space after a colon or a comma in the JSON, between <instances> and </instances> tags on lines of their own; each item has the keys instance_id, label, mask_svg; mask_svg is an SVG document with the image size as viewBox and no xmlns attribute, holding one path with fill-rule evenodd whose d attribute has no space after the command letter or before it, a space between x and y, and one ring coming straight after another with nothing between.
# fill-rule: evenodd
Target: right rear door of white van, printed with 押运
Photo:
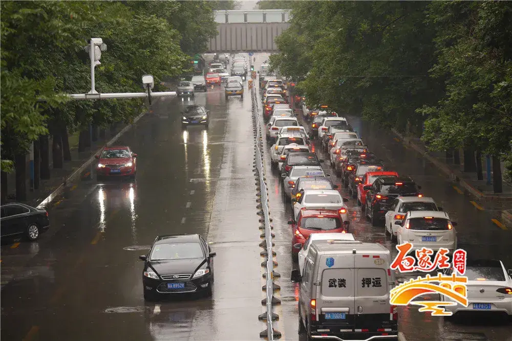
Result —
<instances>
[{"instance_id":1,"label":"right rear door of white van, printed with \u62bc\u8fd0","mask_svg":"<svg viewBox=\"0 0 512 341\"><path fill-rule=\"evenodd\" d=\"M355 330L396 330L393 321L389 290L391 270L388 256L382 254L356 254L355 256Z\"/></svg>"}]
</instances>

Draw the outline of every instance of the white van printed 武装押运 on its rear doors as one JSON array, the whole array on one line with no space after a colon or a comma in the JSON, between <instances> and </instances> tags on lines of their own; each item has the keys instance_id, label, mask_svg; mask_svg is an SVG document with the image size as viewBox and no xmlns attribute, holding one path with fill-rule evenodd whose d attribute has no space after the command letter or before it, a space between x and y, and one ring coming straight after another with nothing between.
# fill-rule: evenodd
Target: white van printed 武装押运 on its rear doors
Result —
<instances>
[{"instance_id":1,"label":"white van printed \u6b66\u88c5\u62bc\u8fd0 on its rear doors","mask_svg":"<svg viewBox=\"0 0 512 341\"><path fill-rule=\"evenodd\" d=\"M396 340L396 307L389 303L395 284L390 251L378 243L315 241L300 282L299 332L312 339Z\"/></svg>"}]
</instances>

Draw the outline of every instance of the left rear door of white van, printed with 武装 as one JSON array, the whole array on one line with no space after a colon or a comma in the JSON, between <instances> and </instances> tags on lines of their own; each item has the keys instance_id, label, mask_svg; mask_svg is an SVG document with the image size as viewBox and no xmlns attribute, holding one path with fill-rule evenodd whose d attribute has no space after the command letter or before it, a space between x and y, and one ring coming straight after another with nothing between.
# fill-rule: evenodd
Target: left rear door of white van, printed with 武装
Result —
<instances>
[{"instance_id":1,"label":"left rear door of white van, printed with \u6b66\u88c5","mask_svg":"<svg viewBox=\"0 0 512 341\"><path fill-rule=\"evenodd\" d=\"M319 263L321 286L316 291L317 321L352 331L355 318L354 257L322 255Z\"/></svg>"}]
</instances>

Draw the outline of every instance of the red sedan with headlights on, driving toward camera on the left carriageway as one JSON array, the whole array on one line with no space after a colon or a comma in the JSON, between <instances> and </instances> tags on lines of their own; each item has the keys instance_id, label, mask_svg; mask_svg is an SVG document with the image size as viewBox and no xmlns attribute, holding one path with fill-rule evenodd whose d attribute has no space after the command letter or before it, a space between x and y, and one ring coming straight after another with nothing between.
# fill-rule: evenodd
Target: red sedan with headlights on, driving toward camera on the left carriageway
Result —
<instances>
[{"instance_id":1,"label":"red sedan with headlights on, driving toward camera on the left carriageway","mask_svg":"<svg viewBox=\"0 0 512 341\"><path fill-rule=\"evenodd\" d=\"M99 180L106 176L121 176L135 179L137 174L137 154L129 147L105 147L101 154L95 155L98 160L96 178Z\"/></svg>"}]
</instances>

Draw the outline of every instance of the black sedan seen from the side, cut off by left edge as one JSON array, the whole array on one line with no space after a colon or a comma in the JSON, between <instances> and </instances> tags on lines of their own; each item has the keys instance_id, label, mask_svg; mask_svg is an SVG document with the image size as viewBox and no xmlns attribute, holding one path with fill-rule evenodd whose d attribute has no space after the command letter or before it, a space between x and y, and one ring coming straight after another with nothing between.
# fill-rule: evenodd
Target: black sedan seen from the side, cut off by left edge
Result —
<instances>
[{"instance_id":1,"label":"black sedan seen from the side, cut off by left edge","mask_svg":"<svg viewBox=\"0 0 512 341\"><path fill-rule=\"evenodd\" d=\"M50 220L48 212L28 206L24 203L7 203L0 207L0 231L2 238L8 236L25 236L33 241L48 230Z\"/></svg>"}]
</instances>

